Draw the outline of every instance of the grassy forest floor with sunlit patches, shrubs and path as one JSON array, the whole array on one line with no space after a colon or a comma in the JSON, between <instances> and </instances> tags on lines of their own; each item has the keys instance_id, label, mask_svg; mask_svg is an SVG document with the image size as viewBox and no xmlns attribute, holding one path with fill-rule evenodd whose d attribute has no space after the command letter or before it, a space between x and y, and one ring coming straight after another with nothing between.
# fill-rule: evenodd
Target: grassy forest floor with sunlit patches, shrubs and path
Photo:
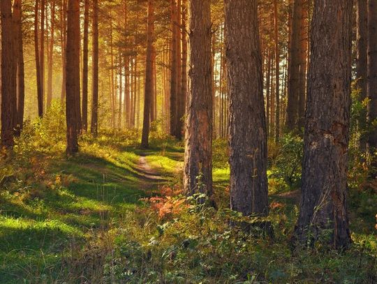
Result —
<instances>
[{"instance_id":1,"label":"grassy forest floor with sunlit patches, shrubs and path","mask_svg":"<svg viewBox=\"0 0 377 284\"><path fill-rule=\"evenodd\" d=\"M221 209L214 211L179 194L184 154L176 142L162 140L145 151L126 135L103 135L80 145L71 158L57 144L31 147L4 164L0 283L376 281L374 221L356 209L355 245L344 253L325 246L290 251L298 190L272 190L274 239L228 228L227 220L237 216L226 209L226 149L215 145ZM225 157L216 158L219 153Z\"/></svg>"}]
</instances>

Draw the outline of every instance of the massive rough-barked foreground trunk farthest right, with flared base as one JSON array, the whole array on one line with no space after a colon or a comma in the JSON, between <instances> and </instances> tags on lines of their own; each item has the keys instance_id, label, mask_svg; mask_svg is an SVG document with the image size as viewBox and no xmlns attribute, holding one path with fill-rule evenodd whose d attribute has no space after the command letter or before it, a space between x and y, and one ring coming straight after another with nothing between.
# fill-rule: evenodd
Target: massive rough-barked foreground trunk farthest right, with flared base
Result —
<instances>
[{"instance_id":1,"label":"massive rough-barked foreground trunk farthest right, with flared base","mask_svg":"<svg viewBox=\"0 0 377 284\"><path fill-rule=\"evenodd\" d=\"M295 236L328 235L350 244L346 208L350 119L352 0L314 1L308 76L302 200Z\"/></svg>"}]
</instances>

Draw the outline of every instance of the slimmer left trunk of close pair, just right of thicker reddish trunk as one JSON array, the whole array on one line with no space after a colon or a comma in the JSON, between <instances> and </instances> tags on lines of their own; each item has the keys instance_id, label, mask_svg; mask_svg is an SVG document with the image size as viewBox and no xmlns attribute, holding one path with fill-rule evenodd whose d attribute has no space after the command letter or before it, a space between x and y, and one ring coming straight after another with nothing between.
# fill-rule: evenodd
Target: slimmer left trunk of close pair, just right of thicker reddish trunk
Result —
<instances>
[{"instance_id":1,"label":"slimmer left trunk of close pair, just right of thicker reddish trunk","mask_svg":"<svg viewBox=\"0 0 377 284\"><path fill-rule=\"evenodd\" d=\"M82 46L82 130L88 130L88 45L89 45L89 0L84 2L84 42Z\"/></svg>"}]
</instances>

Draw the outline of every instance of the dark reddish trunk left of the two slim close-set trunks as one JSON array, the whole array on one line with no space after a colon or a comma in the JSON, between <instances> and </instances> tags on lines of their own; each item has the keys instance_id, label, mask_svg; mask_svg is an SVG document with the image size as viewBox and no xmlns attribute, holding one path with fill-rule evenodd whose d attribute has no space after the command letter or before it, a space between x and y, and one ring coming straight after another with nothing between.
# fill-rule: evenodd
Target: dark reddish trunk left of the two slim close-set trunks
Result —
<instances>
[{"instance_id":1,"label":"dark reddish trunk left of the two slim close-set trunks","mask_svg":"<svg viewBox=\"0 0 377 284\"><path fill-rule=\"evenodd\" d=\"M67 154L78 151L77 103L80 104L80 0L68 0L66 46ZM78 100L77 100L78 98Z\"/></svg>"}]
</instances>

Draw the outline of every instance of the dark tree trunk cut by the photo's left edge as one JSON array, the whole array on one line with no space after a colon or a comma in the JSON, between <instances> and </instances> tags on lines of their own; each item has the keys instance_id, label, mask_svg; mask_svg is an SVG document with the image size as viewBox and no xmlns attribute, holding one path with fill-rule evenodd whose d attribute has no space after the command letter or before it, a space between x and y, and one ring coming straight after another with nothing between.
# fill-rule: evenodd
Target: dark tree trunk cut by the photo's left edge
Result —
<instances>
[{"instance_id":1,"label":"dark tree trunk cut by the photo's left edge","mask_svg":"<svg viewBox=\"0 0 377 284\"><path fill-rule=\"evenodd\" d=\"M16 120L16 62L12 1L1 0L1 147L13 147Z\"/></svg>"}]
</instances>

